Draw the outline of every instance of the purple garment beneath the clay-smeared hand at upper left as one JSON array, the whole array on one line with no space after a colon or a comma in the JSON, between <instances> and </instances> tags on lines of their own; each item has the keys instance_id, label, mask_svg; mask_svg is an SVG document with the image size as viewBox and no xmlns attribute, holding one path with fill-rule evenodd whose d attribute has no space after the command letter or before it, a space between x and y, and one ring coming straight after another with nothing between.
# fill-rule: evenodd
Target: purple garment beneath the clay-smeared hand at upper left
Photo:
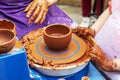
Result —
<instances>
[{"instance_id":1,"label":"purple garment beneath the clay-smeared hand at upper left","mask_svg":"<svg viewBox=\"0 0 120 80\"><path fill-rule=\"evenodd\" d=\"M26 13L24 13L23 10L31 1L32 0L0 0L0 19L8 19L16 24L18 38L21 38L32 30L53 23L71 25L72 20L56 5L49 7L46 20L43 24L28 24L28 18L26 18Z\"/></svg>"}]
</instances>

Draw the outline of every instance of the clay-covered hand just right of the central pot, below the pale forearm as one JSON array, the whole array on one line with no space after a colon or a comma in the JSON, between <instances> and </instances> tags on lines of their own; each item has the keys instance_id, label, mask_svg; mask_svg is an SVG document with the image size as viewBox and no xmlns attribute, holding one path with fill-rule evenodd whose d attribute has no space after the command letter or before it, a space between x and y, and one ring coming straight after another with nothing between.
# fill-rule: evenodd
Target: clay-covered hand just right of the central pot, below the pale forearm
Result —
<instances>
[{"instance_id":1,"label":"clay-covered hand just right of the central pot, below the pale forearm","mask_svg":"<svg viewBox=\"0 0 120 80\"><path fill-rule=\"evenodd\" d=\"M95 31L92 30L91 28L86 28L86 27L76 27L73 29L73 33L77 34L78 36L95 36Z\"/></svg>"}]
</instances>

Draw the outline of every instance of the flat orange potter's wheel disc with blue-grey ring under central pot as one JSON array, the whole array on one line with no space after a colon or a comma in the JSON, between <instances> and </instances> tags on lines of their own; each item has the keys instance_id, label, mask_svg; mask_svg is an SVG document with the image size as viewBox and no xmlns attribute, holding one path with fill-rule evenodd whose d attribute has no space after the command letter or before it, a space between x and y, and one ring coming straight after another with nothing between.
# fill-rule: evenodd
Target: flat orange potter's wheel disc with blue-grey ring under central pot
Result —
<instances>
[{"instance_id":1,"label":"flat orange potter's wheel disc with blue-grey ring under central pot","mask_svg":"<svg viewBox=\"0 0 120 80\"><path fill-rule=\"evenodd\" d=\"M43 36L40 36L34 41L30 48L33 51L32 55L39 60L48 58L55 64L63 64L81 58L86 51L86 44L81 38L72 34L72 40L67 49L53 51L47 48Z\"/></svg>"}]
</instances>

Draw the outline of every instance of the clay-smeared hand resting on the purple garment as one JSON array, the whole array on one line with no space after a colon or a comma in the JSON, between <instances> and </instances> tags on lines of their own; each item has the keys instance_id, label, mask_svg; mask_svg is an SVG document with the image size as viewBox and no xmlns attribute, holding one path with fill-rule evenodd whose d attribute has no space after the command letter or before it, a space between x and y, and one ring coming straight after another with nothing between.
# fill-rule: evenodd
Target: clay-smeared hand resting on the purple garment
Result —
<instances>
[{"instance_id":1,"label":"clay-smeared hand resting on the purple garment","mask_svg":"<svg viewBox=\"0 0 120 80\"><path fill-rule=\"evenodd\" d=\"M48 2L47 0L33 0L24 10L26 12L26 17L29 18L28 23L40 23L42 24L46 18L48 12Z\"/></svg>"}]
</instances>

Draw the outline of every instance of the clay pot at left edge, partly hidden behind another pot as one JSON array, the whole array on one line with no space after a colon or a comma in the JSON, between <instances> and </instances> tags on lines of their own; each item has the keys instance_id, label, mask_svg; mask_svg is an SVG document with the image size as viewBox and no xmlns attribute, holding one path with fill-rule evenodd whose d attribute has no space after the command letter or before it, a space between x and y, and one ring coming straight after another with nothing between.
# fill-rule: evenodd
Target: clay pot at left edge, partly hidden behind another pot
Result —
<instances>
[{"instance_id":1,"label":"clay pot at left edge, partly hidden behind another pot","mask_svg":"<svg viewBox=\"0 0 120 80\"><path fill-rule=\"evenodd\" d=\"M0 19L0 29L11 30L16 34L16 26L15 24L7 19Z\"/></svg>"}]
</instances>

